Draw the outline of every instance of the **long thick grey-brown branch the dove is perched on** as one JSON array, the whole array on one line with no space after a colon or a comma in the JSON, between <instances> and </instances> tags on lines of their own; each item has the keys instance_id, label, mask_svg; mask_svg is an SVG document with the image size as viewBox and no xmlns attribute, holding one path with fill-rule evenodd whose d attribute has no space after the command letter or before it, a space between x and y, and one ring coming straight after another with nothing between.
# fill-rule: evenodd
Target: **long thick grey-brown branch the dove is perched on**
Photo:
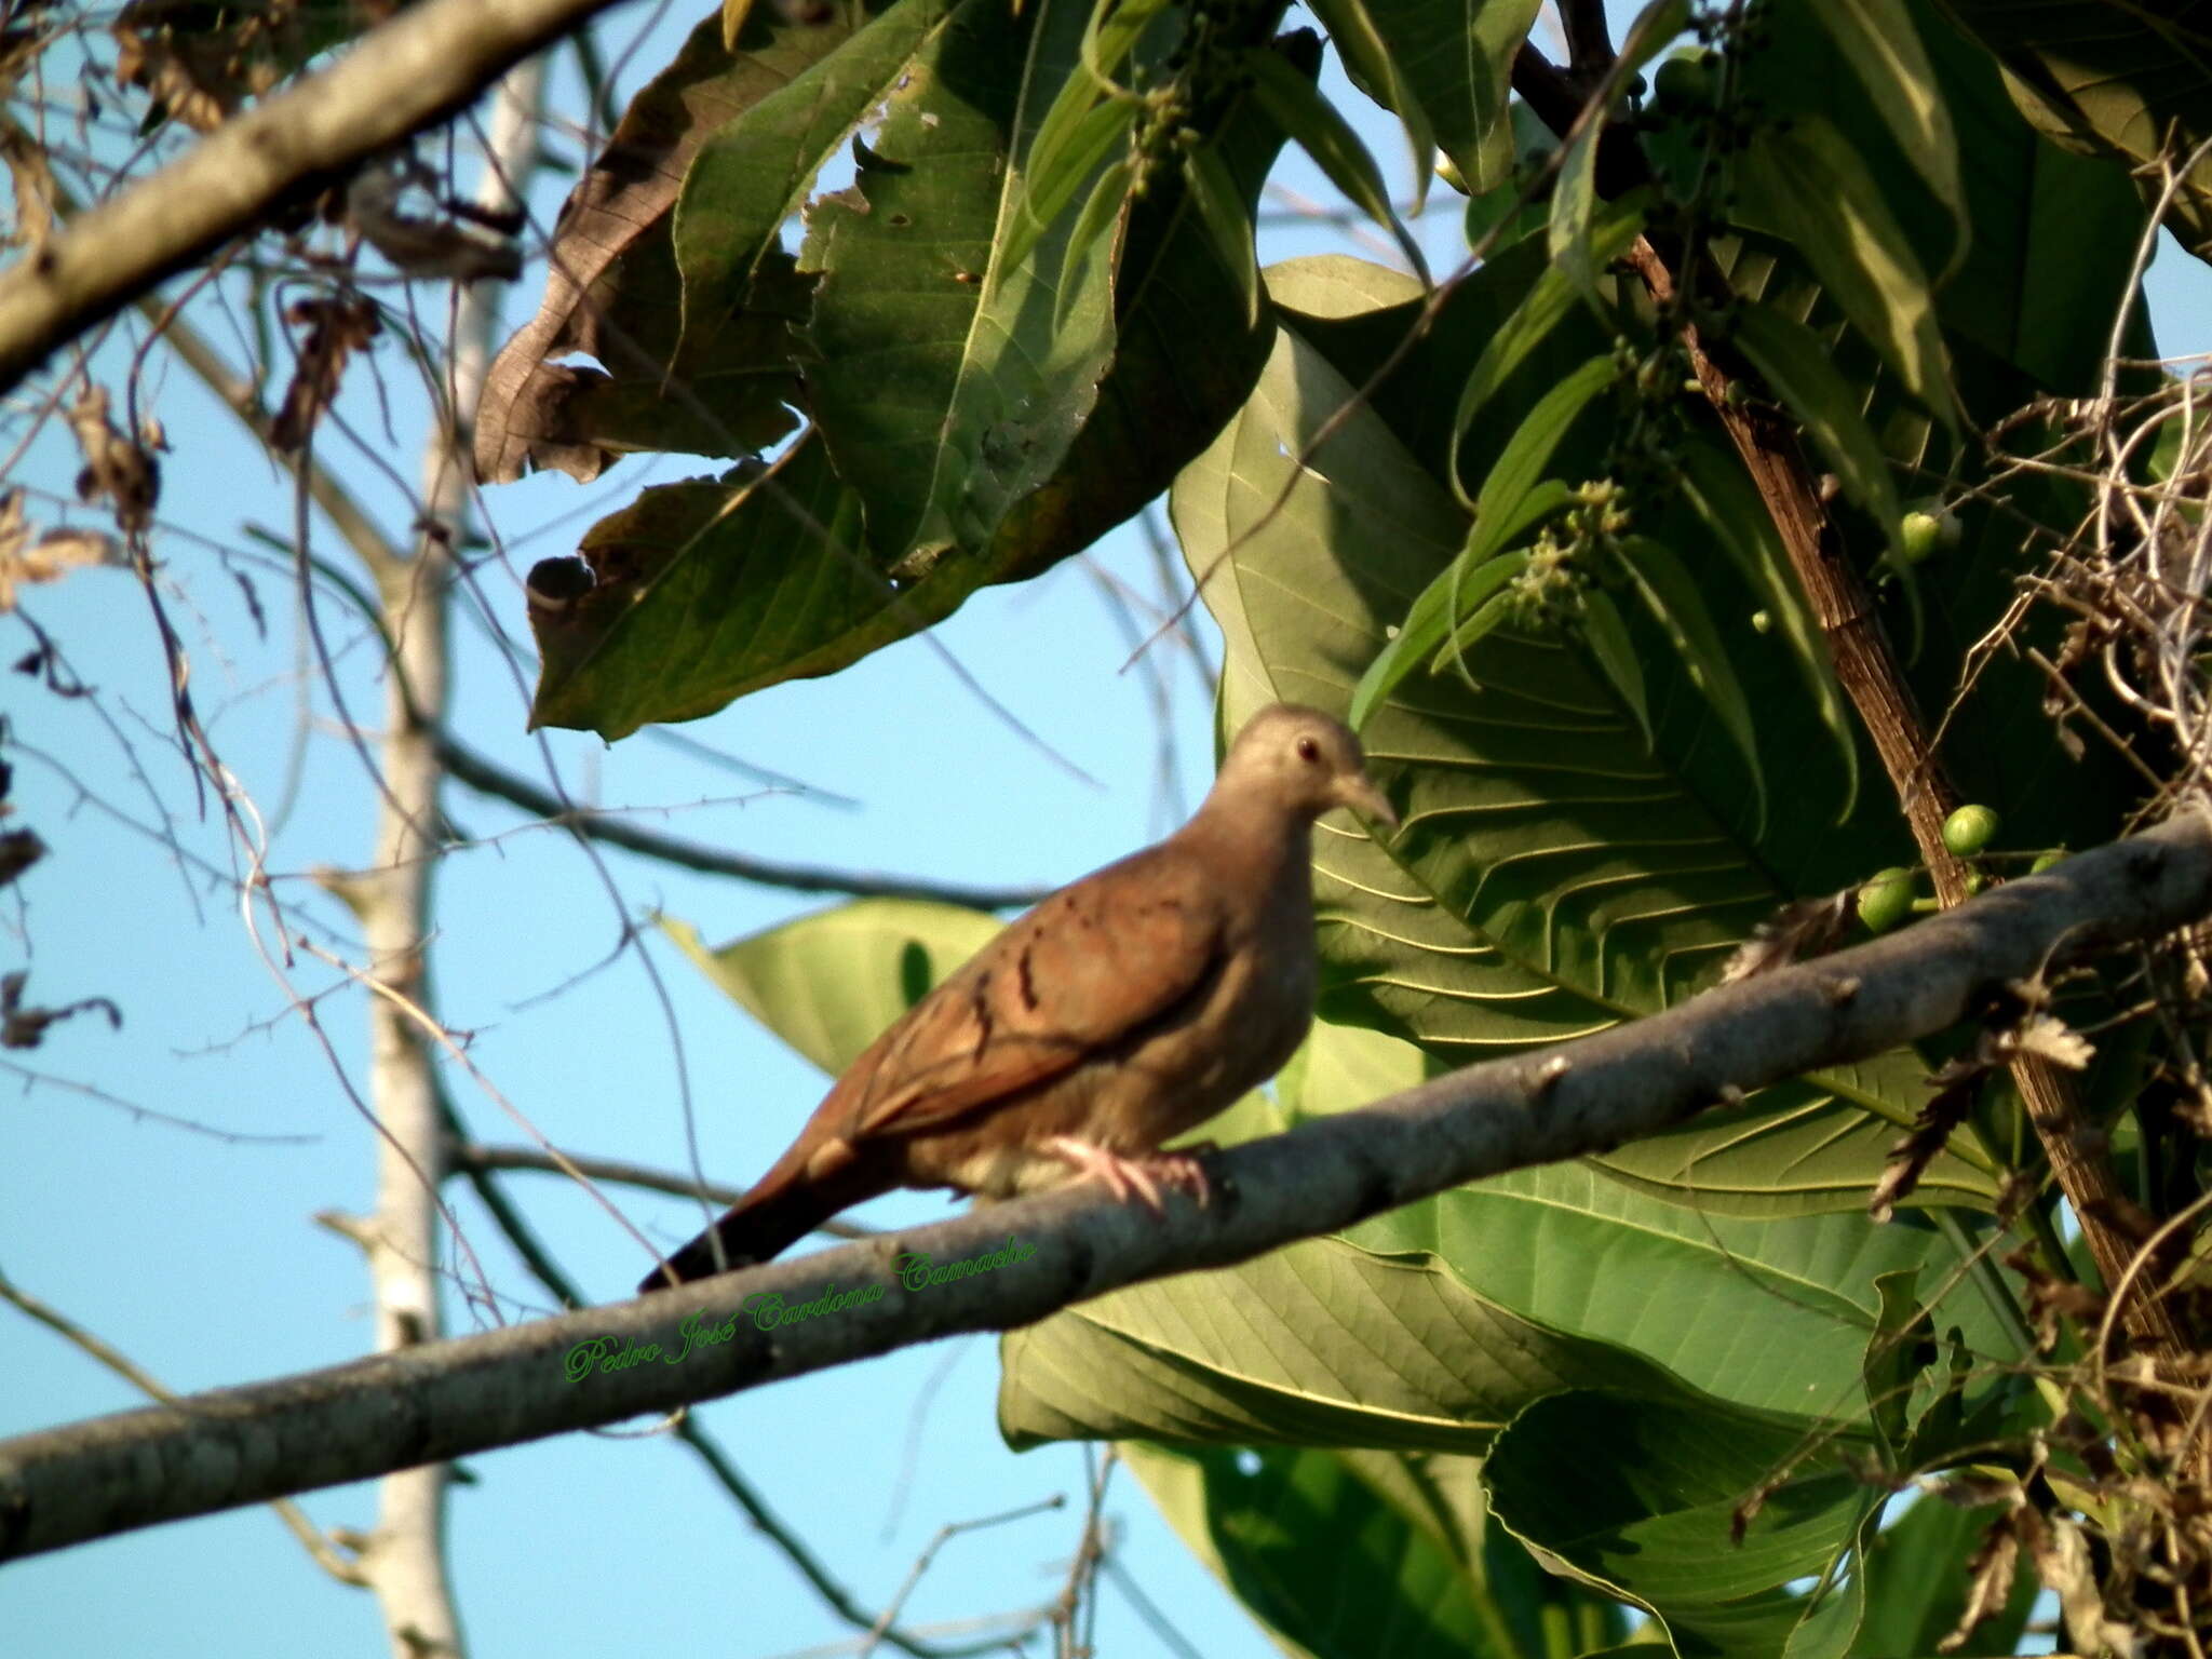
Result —
<instances>
[{"instance_id":1,"label":"long thick grey-brown branch the dove is perched on","mask_svg":"<svg viewBox=\"0 0 2212 1659\"><path fill-rule=\"evenodd\" d=\"M1203 1210L1175 1197L1157 1219L1082 1183L635 1303L4 1440L0 1559L1029 1325L1141 1279L1223 1267L1462 1181L1652 1135L1736 1091L1942 1031L2011 980L2208 911L2212 814L2192 812L1871 945L1237 1146L1214 1159ZM960 1261L1009 1234L1022 1261L900 1287L902 1252ZM832 1285L876 1298L772 1329L745 1316L765 1296L799 1307ZM730 1336L703 1347L684 1329L723 1321ZM661 1354L568 1380L593 1343Z\"/></svg>"}]
</instances>

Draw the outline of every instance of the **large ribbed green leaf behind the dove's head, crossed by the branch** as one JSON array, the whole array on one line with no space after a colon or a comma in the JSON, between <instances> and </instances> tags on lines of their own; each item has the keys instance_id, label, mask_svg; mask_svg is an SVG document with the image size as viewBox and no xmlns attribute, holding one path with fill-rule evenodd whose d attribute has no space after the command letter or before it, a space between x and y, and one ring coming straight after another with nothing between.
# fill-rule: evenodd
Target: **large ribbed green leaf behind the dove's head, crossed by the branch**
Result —
<instances>
[{"instance_id":1,"label":"large ribbed green leaf behind the dove's head, crossed by the branch","mask_svg":"<svg viewBox=\"0 0 2212 1659\"><path fill-rule=\"evenodd\" d=\"M1383 403L1349 400L1332 363L1285 330L1243 414L1177 480L1186 555L1212 573L1230 721L1274 699L1343 710L1385 630L1464 535L1464 515L1396 440ZM1750 697L1794 681L1785 648L1747 615L1723 626ZM1865 858L1836 838L1832 805L1809 799L1754 834L1743 763L1714 741L1710 708L1663 648L1646 666L1659 686L1652 752L1564 639L1491 635L1471 670L1475 688L1409 681L1367 726L1376 772L1407 816L1391 852L1321 832L1334 1018L1451 1062L1599 1031L1703 984L1781 898L1820 880L1823 863L1843 885ZM1761 721L1776 801L1807 796L1825 770L1825 745L1805 741L1814 719L1796 697ZM1818 801L1832 803L1832 787ZM1907 1121L1922 1097L1920 1066L1889 1055L1621 1148L1608 1168L1714 1210L1847 1208L1893 1139L1878 1119ZM1938 1164L1924 1190L1936 1201L1989 1199L1986 1175Z\"/></svg>"}]
</instances>

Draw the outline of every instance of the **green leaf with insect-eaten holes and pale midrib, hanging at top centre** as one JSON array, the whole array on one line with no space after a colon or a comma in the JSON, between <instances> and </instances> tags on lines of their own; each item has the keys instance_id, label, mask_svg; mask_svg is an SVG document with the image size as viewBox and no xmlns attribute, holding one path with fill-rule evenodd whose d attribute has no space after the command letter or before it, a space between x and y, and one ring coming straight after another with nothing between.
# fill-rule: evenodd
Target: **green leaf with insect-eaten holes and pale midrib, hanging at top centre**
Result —
<instances>
[{"instance_id":1,"label":"green leaf with insect-eaten holes and pale midrib, hanging at top centre","mask_svg":"<svg viewBox=\"0 0 2212 1659\"><path fill-rule=\"evenodd\" d=\"M1077 66L1088 18L1088 0L1037 0L1013 22L967 0L885 95L854 186L807 215L799 263L821 274L801 332L807 409L894 568L982 555L1097 398L1110 250L1093 243L1062 270L1062 228L1020 265L995 259L1022 206L1026 137ZM1088 296L1055 307L1062 283Z\"/></svg>"}]
</instances>

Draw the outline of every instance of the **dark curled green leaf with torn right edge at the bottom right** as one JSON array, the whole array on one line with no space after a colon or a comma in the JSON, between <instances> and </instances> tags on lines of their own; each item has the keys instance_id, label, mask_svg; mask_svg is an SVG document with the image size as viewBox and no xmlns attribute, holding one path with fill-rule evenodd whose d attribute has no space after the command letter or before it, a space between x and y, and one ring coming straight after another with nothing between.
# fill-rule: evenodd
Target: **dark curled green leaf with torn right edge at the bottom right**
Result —
<instances>
[{"instance_id":1,"label":"dark curled green leaf with torn right edge at the bottom right","mask_svg":"<svg viewBox=\"0 0 2212 1659\"><path fill-rule=\"evenodd\" d=\"M1805 1453L1798 1425L1584 1389L1522 1411L1486 1471L1491 1509L1515 1537L1657 1613L1677 1652L1774 1659L1812 1613L1783 1586L1836 1559L1865 1502L1851 1473ZM1770 1482L1781 1484L1734 1542L1739 1506Z\"/></svg>"}]
</instances>

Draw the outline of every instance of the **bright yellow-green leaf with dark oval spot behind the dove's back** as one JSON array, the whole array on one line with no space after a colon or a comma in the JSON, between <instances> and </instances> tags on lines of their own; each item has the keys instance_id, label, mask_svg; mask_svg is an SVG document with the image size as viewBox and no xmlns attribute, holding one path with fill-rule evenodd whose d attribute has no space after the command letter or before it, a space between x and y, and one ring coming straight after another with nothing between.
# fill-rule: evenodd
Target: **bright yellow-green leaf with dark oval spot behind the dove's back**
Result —
<instances>
[{"instance_id":1,"label":"bright yellow-green leaf with dark oval spot behind the dove's back","mask_svg":"<svg viewBox=\"0 0 2212 1659\"><path fill-rule=\"evenodd\" d=\"M832 1077L1002 927L960 905L856 898L708 949L690 922L655 920L723 995Z\"/></svg>"}]
</instances>

